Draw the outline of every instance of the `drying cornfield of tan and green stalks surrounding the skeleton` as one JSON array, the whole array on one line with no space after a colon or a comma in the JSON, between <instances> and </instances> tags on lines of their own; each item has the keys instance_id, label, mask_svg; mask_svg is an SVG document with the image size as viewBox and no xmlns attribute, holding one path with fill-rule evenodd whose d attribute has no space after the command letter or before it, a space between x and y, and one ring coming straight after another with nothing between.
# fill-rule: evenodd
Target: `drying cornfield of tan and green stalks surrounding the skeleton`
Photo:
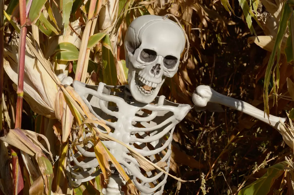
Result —
<instances>
[{"instance_id":1,"label":"drying cornfield of tan and green stalks surrounding the skeleton","mask_svg":"<svg viewBox=\"0 0 294 195\"><path fill-rule=\"evenodd\" d=\"M101 142L119 141L97 133L95 124L110 128L91 120L61 80L127 85L128 26L166 14L180 21L190 47L158 95L193 105L196 87L209 85L287 122L277 131L224 106L192 109L173 133L164 194L294 194L293 7L292 0L0 0L0 194L103 194L110 164L126 181L124 194L139 194ZM85 127L96 133L83 137ZM73 132L94 143L101 170L78 186L67 175Z\"/></svg>"}]
</instances>

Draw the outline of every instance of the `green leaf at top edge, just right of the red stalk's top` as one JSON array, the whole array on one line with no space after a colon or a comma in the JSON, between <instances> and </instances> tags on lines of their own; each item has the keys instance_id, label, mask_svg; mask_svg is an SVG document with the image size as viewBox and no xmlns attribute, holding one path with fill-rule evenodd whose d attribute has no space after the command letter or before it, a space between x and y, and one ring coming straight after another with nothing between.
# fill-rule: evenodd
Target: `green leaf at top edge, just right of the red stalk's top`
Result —
<instances>
[{"instance_id":1,"label":"green leaf at top edge, just right of the red stalk's top","mask_svg":"<svg viewBox=\"0 0 294 195\"><path fill-rule=\"evenodd\" d=\"M42 9L45 5L47 0L33 0L30 10L29 10L29 15L27 19L27 23L29 24L35 24L38 20L38 18L41 16Z\"/></svg>"}]
</instances>

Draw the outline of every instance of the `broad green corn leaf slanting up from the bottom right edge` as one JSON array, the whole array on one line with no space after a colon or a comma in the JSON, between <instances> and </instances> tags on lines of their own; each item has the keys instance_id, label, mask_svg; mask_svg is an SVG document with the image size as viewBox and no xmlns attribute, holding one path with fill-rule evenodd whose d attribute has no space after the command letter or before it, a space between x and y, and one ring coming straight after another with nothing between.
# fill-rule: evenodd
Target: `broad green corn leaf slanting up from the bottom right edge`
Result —
<instances>
[{"instance_id":1,"label":"broad green corn leaf slanting up from the bottom right edge","mask_svg":"<svg viewBox=\"0 0 294 195\"><path fill-rule=\"evenodd\" d=\"M288 163L286 161L280 162L269 167L266 173L257 179L255 182L241 189L238 195L266 195L271 190L275 179L284 173L284 169Z\"/></svg>"}]
</instances>

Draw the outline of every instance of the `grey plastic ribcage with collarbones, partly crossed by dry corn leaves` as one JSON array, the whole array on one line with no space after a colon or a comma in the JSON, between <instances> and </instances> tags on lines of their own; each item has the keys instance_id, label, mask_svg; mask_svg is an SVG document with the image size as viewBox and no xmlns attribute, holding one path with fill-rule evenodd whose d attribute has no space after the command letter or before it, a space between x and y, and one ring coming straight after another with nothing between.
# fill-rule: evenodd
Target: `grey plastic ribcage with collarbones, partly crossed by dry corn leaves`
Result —
<instances>
[{"instance_id":1,"label":"grey plastic ribcage with collarbones, partly crossed by dry corn leaves","mask_svg":"<svg viewBox=\"0 0 294 195\"><path fill-rule=\"evenodd\" d=\"M113 87L104 83L93 86L76 81L73 87L91 113L111 127L110 136L130 145L168 172L173 130L191 109L190 105L169 102L164 96L157 97L151 104L143 104L135 101L125 86ZM91 137L91 133L86 132L85 136ZM75 134L73 139L77 139ZM93 143L82 139L78 143L81 144L72 145L67 163L68 176L74 186L100 174ZM125 168L141 194L163 193L167 174L141 167L128 149L116 142L103 143Z\"/></svg>"}]
</instances>

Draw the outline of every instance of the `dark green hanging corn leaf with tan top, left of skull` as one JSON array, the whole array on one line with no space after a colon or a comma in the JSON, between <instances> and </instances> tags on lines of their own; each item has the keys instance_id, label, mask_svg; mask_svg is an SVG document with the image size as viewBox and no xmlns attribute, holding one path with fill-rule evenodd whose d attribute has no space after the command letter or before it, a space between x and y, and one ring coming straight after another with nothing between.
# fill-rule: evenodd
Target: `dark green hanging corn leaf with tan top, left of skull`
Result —
<instances>
[{"instance_id":1,"label":"dark green hanging corn leaf with tan top, left of skull","mask_svg":"<svg viewBox=\"0 0 294 195\"><path fill-rule=\"evenodd\" d=\"M110 43L109 35L106 35L103 39L102 46L102 62L103 62L103 79L107 85L116 85L117 73L116 73L116 59L113 56L113 50Z\"/></svg>"}]
</instances>

